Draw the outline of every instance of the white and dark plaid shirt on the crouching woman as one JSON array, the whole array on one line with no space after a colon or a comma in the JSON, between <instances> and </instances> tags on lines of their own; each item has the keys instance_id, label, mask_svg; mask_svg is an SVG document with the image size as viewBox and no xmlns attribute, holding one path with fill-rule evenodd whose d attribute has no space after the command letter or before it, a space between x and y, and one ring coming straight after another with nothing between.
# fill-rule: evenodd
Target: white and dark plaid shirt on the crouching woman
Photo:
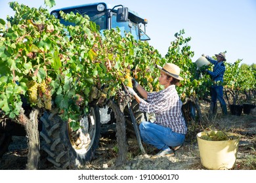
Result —
<instances>
[{"instance_id":1,"label":"white and dark plaid shirt on the crouching woman","mask_svg":"<svg viewBox=\"0 0 256 183\"><path fill-rule=\"evenodd\" d=\"M160 92L148 93L148 102L140 100L140 110L156 114L156 124L170 127L176 133L186 134L186 124L182 117L182 102L171 85Z\"/></svg>"}]
</instances>

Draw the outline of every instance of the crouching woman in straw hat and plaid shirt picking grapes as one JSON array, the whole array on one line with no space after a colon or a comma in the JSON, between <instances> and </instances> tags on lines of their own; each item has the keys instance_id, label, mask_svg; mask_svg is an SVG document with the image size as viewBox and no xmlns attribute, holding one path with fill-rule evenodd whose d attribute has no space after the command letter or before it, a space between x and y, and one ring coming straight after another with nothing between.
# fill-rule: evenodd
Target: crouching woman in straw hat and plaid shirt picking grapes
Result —
<instances>
[{"instance_id":1,"label":"crouching woman in straw hat and plaid shirt picking grapes","mask_svg":"<svg viewBox=\"0 0 256 183\"><path fill-rule=\"evenodd\" d=\"M127 90L139 103L140 110L156 115L156 121L142 122L139 125L140 135L144 142L152 144L160 150L157 157L175 156L177 150L184 142L187 127L182 117L182 102L175 86L183 78L181 69L173 64L166 63L160 69L159 82L164 86L160 92L146 92L142 86L134 80L135 87L146 101L137 95L133 88L127 86Z\"/></svg>"}]
</instances>

